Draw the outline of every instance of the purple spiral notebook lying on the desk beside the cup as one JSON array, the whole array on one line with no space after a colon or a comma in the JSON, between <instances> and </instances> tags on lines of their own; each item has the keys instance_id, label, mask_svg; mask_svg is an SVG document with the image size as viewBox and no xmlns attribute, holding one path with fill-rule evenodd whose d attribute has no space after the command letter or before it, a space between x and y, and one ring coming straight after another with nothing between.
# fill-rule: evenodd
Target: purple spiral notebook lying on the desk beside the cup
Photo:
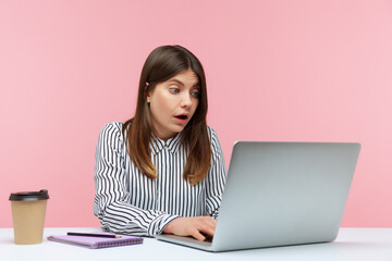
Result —
<instances>
[{"instance_id":1,"label":"purple spiral notebook lying on the desk beside the cup","mask_svg":"<svg viewBox=\"0 0 392 261\"><path fill-rule=\"evenodd\" d=\"M110 233L99 232L94 234L113 235ZM107 248L107 247L120 247L127 245L142 244L143 238L136 236L119 235L119 238L108 237L89 237L89 236L49 236L48 240L64 243L73 246L86 247L86 248Z\"/></svg>"}]
</instances>

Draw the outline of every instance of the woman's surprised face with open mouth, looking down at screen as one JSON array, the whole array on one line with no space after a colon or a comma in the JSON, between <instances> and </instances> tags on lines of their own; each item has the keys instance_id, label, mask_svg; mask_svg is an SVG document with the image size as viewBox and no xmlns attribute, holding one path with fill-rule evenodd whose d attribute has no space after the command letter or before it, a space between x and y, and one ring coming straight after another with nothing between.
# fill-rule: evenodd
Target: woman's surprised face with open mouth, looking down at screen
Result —
<instances>
[{"instance_id":1,"label":"woman's surprised face with open mouth, looking down at screen","mask_svg":"<svg viewBox=\"0 0 392 261\"><path fill-rule=\"evenodd\" d=\"M197 109L199 91L197 75L186 70L147 94L158 138L167 140L184 129Z\"/></svg>"}]
</instances>

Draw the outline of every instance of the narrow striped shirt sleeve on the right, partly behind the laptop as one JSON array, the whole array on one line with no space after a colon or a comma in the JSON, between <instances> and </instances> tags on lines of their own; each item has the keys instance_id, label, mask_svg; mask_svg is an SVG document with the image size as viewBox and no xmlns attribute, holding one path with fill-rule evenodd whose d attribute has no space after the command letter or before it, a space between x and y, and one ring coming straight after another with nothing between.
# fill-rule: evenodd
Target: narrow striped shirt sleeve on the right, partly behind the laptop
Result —
<instances>
[{"instance_id":1,"label":"narrow striped shirt sleeve on the right, partly behind the laptop","mask_svg":"<svg viewBox=\"0 0 392 261\"><path fill-rule=\"evenodd\" d=\"M226 169L217 133L208 127L208 134L211 142L211 166L206 176L206 208L208 215L218 219L226 179Z\"/></svg>"}]
</instances>

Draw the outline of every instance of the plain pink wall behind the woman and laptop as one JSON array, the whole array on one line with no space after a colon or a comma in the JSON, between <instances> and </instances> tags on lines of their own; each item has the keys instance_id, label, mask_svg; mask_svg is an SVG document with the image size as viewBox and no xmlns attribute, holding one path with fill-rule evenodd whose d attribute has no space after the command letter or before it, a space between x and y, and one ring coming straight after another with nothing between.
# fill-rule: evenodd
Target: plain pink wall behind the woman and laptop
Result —
<instances>
[{"instance_id":1,"label":"plain pink wall behind the woman and laptop","mask_svg":"<svg viewBox=\"0 0 392 261\"><path fill-rule=\"evenodd\" d=\"M0 0L1 227L40 188L47 226L99 225L98 133L167 44L204 63L226 164L238 139L362 142L342 226L392 226L392 1Z\"/></svg>"}]
</instances>

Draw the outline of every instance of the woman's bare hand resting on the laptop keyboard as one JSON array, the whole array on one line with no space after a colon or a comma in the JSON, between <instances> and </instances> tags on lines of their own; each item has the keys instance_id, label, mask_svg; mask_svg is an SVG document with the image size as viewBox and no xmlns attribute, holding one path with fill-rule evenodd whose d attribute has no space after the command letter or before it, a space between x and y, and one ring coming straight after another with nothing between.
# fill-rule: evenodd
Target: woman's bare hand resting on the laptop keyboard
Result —
<instances>
[{"instance_id":1,"label":"woman's bare hand resting on the laptop keyboard","mask_svg":"<svg viewBox=\"0 0 392 261\"><path fill-rule=\"evenodd\" d=\"M211 216L177 217L163 228L163 233L193 236L204 241L206 237L201 233L213 236L216 225L217 221Z\"/></svg>"}]
</instances>

